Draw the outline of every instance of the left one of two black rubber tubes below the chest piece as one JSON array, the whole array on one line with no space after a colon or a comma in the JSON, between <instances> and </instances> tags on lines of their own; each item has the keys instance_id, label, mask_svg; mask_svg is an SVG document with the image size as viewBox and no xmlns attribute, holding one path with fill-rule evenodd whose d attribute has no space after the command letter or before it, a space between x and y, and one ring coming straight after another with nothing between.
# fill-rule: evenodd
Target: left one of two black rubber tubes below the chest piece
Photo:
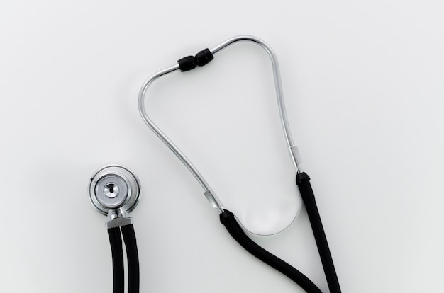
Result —
<instances>
[{"instance_id":1,"label":"left one of two black rubber tubes below the chest piece","mask_svg":"<svg viewBox=\"0 0 444 293\"><path fill-rule=\"evenodd\" d=\"M119 227L108 229L109 243L113 257L113 293L124 292L123 275L123 248L121 229Z\"/></svg>"}]
</instances>

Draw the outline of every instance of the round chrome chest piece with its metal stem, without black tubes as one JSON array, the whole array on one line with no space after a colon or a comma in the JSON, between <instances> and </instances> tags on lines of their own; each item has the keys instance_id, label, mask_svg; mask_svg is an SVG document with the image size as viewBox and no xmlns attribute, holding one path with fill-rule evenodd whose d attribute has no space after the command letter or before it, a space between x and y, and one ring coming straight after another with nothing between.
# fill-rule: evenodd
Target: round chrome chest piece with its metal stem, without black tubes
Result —
<instances>
[{"instance_id":1,"label":"round chrome chest piece with its metal stem, without black tubes","mask_svg":"<svg viewBox=\"0 0 444 293\"><path fill-rule=\"evenodd\" d=\"M131 224L128 212L139 202L140 182L128 168L105 166L91 176L89 198L98 212L108 215L108 228Z\"/></svg>"}]
</instances>

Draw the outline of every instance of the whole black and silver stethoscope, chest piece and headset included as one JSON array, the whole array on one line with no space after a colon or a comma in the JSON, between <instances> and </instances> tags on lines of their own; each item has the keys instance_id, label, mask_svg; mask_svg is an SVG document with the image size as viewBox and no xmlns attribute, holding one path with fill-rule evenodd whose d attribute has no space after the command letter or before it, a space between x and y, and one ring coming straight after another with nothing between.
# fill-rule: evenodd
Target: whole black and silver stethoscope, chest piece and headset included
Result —
<instances>
[{"instance_id":1,"label":"whole black and silver stethoscope, chest piece and headset included","mask_svg":"<svg viewBox=\"0 0 444 293\"><path fill-rule=\"evenodd\" d=\"M333 265L330 249L326 235L323 230L321 217L319 216L318 208L316 206L315 197L310 184L310 177L301 170L301 160L299 151L294 145L292 134L289 129L287 120L287 112L285 110L284 98L282 93L282 83L279 73L279 64L277 57L272 48L266 42L252 36L238 36L222 42L213 47L211 50L205 49L197 53L195 56L187 56L177 61L170 67L157 71L152 74L140 88L138 96L138 108L143 121L155 132L162 142L164 142L169 149L179 158L182 163L193 174L194 178L199 182L204 189L204 195L211 203L211 206L218 210L221 223L226 227L228 233L237 241L240 246L246 251L254 255L256 258L262 260L272 268L282 272L282 274L289 277L296 282L306 292L321 292L316 285L309 280L304 274L293 268L288 263L280 258L277 258L272 253L266 251L250 239L243 231L239 220L228 209L223 207L221 200L216 196L209 183L204 176L196 169L189 159L179 150L177 146L155 125L148 117L145 110L145 96L149 86L161 76L170 74L174 71L189 71L196 67L202 67L214 58L214 54L225 49L229 45L239 41L249 41L262 47L270 57L272 63L272 71L274 76L274 86L276 89L277 104L279 106L280 120L284 130L284 137L287 142L289 154L292 158L292 163L296 171L296 185L299 188L302 200L306 206L307 214L313 235L316 240L319 255L323 270L326 275L328 288L330 292L340 292L338 277ZM89 182L89 195L92 204L102 214L106 214L109 221L106 222L108 229L109 241L111 244L111 254L113 258L113 293L123 293L124 291L124 265L123 265L123 243L126 246L127 260L128 260L128 293L139 292L139 263L138 263L138 249L135 241L135 233L133 228L133 220L128 217L138 203L140 197L140 183L135 174L128 168L123 166L106 166L96 171Z\"/></svg>"}]
</instances>

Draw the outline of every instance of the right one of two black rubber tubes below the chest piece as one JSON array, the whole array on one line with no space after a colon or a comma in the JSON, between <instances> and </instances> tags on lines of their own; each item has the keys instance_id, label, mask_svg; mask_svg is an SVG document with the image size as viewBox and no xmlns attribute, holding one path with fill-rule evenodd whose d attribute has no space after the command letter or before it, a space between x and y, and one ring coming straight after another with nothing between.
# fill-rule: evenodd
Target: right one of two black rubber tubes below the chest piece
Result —
<instances>
[{"instance_id":1,"label":"right one of two black rubber tubes below the chest piece","mask_svg":"<svg viewBox=\"0 0 444 293\"><path fill-rule=\"evenodd\" d=\"M135 241L134 226L133 224L121 226L121 229L126 246L126 257L128 258L128 293L139 293L139 254Z\"/></svg>"}]
</instances>

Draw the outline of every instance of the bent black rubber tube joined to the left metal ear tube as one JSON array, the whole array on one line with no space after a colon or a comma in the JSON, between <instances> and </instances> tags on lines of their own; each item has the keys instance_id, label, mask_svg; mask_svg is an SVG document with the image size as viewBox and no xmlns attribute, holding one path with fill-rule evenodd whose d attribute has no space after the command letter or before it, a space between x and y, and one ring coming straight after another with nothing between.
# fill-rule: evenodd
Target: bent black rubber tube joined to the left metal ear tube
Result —
<instances>
[{"instance_id":1,"label":"bent black rubber tube joined to the left metal ear tube","mask_svg":"<svg viewBox=\"0 0 444 293\"><path fill-rule=\"evenodd\" d=\"M284 262L277 256L272 253L266 251L264 248L260 247L252 241L240 227L238 222L236 221L234 214L227 209L224 209L220 214L221 223L226 227L228 233L238 241L240 246L245 248L246 251L254 255L256 258L259 258L267 265L270 265L272 268L282 272L282 274L289 277L291 280L296 282L302 289L309 293L321 293L321 290L316 287L316 285L311 282L311 280L306 277L304 274L293 268L292 265Z\"/></svg>"}]
</instances>

